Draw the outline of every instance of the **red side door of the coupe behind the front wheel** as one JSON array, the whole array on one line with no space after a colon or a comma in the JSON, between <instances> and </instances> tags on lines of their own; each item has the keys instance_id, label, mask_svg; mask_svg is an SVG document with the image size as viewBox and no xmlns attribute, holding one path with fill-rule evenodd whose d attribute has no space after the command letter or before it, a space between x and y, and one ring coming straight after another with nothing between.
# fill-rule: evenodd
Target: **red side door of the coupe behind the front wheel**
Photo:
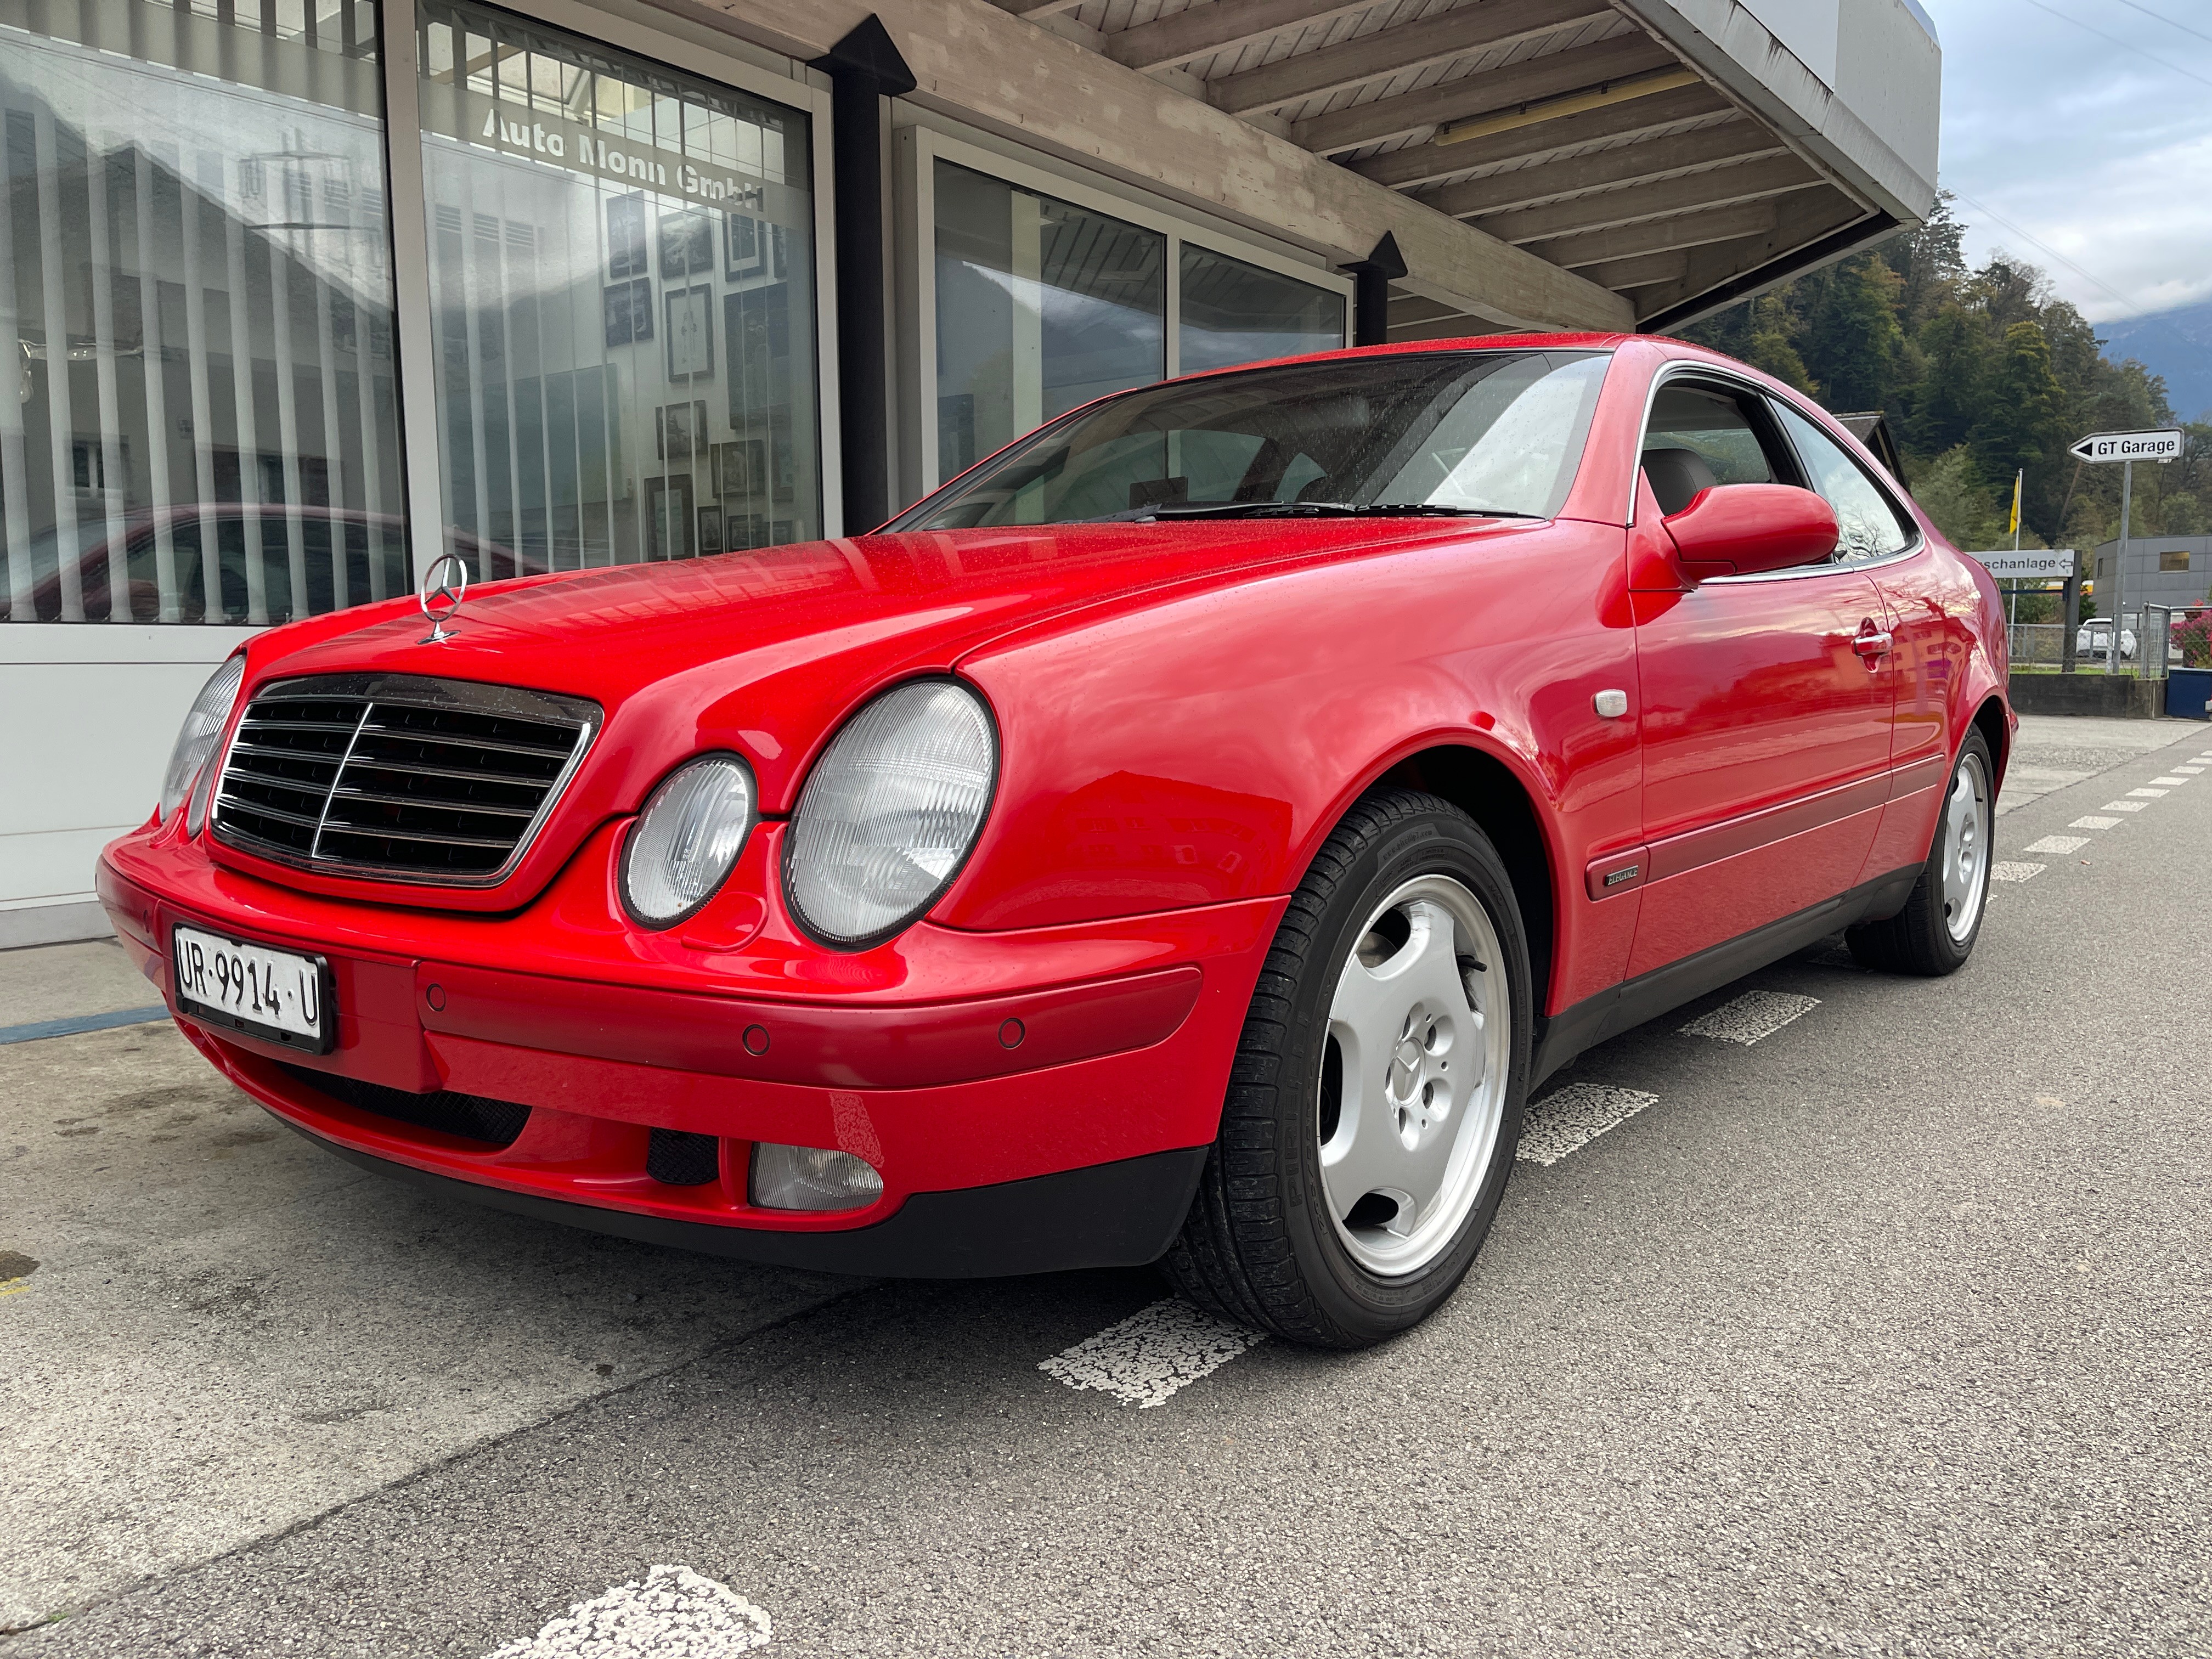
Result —
<instances>
[{"instance_id":1,"label":"red side door of the coupe behind the front wheel","mask_svg":"<svg viewBox=\"0 0 2212 1659\"><path fill-rule=\"evenodd\" d=\"M1896 684L1874 582L1849 564L1690 582L1657 524L1701 489L1805 482L1756 387L1699 367L1655 389L1630 529L1648 847L1630 980L1823 907L1874 845Z\"/></svg>"}]
</instances>

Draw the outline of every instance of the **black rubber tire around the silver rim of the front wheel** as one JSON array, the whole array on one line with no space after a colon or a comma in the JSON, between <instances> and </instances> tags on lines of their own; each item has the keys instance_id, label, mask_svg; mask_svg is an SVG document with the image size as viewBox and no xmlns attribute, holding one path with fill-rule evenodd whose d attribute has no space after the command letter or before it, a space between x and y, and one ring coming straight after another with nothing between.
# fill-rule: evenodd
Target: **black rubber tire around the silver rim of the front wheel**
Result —
<instances>
[{"instance_id":1,"label":"black rubber tire around the silver rim of the front wheel","mask_svg":"<svg viewBox=\"0 0 2212 1659\"><path fill-rule=\"evenodd\" d=\"M1420 1272L1383 1279L1352 1259L1329 1219L1321 1186L1321 1060L1329 1031L1329 1004L1358 929L1374 907L1418 876L1451 876L1489 911L1504 949L1506 991L1513 1020L1504 1113L1491 1168L1458 1237ZM1513 880L1489 838L1458 810L1436 803L1371 834L1352 854L1349 867L1323 898L1316 951L1307 956L1292 991L1292 1024L1285 1033L1276 1086L1276 1135L1285 1148L1283 1214L1296 1270L1327 1325L1354 1343L1374 1343L1420 1323L1442 1303L1473 1265L1513 1175L1522 1102L1528 1093L1533 987L1528 945L1513 896Z\"/></svg>"}]
</instances>

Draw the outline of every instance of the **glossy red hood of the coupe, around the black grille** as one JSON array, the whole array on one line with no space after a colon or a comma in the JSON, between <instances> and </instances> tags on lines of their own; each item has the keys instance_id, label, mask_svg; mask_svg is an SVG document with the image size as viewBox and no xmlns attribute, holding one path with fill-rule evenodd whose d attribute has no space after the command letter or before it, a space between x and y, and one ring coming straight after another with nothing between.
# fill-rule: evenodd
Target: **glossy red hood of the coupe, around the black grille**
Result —
<instances>
[{"instance_id":1,"label":"glossy red hood of the coupe, around the black grille","mask_svg":"<svg viewBox=\"0 0 2212 1659\"><path fill-rule=\"evenodd\" d=\"M677 761L737 750L761 810L790 812L812 754L891 681L949 672L1013 630L1152 588L1250 575L1528 524L1471 520L1239 520L1055 524L799 542L672 564L471 588L453 633L425 644L414 602L314 617L254 641L248 688L292 675L396 672L588 697L591 754L495 902L526 902L599 823L635 812ZM259 874L276 874L248 860ZM358 891L321 876L279 876ZM389 894L387 883L376 891ZM491 894L409 902L487 909Z\"/></svg>"}]
</instances>

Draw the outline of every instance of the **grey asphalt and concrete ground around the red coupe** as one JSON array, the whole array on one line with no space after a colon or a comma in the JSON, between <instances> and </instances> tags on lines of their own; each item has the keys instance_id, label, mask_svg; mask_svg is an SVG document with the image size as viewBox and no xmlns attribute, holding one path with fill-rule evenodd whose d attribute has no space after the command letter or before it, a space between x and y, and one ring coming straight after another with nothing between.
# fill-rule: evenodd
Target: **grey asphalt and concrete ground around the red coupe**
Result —
<instances>
[{"instance_id":1,"label":"grey asphalt and concrete ground around the red coupe","mask_svg":"<svg viewBox=\"0 0 2212 1659\"><path fill-rule=\"evenodd\" d=\"M0 1655L2212 1652L2199 757L2033 723L1962 973L1584 1055L1356 1356L440 1206L164 1026L4 1044Z\"/></svg>"}]
</instances>

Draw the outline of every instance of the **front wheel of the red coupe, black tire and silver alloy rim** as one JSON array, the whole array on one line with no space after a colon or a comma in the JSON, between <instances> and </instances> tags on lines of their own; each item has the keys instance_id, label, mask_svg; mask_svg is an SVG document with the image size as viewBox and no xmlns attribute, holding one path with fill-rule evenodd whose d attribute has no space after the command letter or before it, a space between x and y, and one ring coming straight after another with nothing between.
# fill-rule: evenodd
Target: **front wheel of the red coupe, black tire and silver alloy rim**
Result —
<instances>
[{"instance_id":1,"label":"front wheel of the red coupe, black tire and silver alloy rim","mask_svg":"<svg viewBox=\"0 0 2212 1659\"><path fill-rule=\"evenodd\" d=\"M1261 967L1168 1279L1310 1347L1418 1325L1498 1214L1528 1035L1528 945L1498 849L1431 794L1363 796Z\"/></svg>"}]
</instances>

